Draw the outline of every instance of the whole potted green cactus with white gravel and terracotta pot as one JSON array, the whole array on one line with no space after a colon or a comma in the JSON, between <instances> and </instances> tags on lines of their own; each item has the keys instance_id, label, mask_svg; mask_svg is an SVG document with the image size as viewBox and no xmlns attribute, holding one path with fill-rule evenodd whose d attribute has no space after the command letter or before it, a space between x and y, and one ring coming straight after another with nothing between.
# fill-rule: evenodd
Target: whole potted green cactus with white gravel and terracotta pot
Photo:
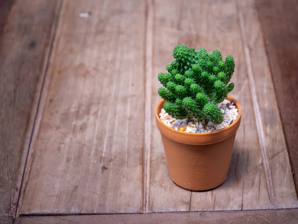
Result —
<instances>
[{"instance_id":1,"label":"whole potted green cactus with white gravel and terracotta pot","mask_svg":"<svg viewBox=\"0 0 298 224\"><path fill-rule=\"evenodd\" d=\"M239 103L228 96L234 84L234 59L176 45L168 73L159 73L164 88L155 108L171 179L182 188L200 191L226 179L236 131Z\"/></svg>"}]
</instances>

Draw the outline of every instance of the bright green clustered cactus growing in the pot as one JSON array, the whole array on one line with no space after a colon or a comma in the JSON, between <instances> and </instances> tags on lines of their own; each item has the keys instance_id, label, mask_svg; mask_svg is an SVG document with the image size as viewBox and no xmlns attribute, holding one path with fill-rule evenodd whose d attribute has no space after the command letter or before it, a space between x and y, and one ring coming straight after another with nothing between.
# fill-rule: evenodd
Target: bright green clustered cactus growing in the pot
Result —
<instances>
[{"instance_id":1,"label":"bright green clustered cactus growing in the pot","mask_svg":"<svg viewBox=\"0 0 298 224\"><path fill-rule=\"evenodd\" d=\"M166 101L163 108L171 116L183 119L196 117L214 124L223 122L223 113L217 104L233 90L227 85L232 77L235 62L232 56L223 61L219 50L209 54L204 48L195 51L185 45L176 45L176 59L166 66L168 73L159 73L159 96Z\"/></svg>"}]
</instances>

